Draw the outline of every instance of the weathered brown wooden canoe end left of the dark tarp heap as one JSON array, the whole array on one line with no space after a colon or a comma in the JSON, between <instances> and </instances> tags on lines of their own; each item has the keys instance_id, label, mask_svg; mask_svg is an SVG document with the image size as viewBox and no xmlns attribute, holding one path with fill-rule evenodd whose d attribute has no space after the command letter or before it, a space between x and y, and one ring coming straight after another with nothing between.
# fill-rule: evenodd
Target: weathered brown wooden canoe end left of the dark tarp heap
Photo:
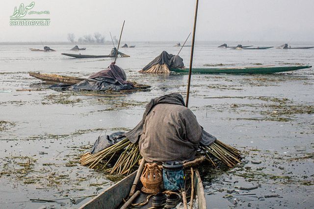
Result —
<instances>
[{"instance_id":1,"label":"weathered brown wooden canoe end left of the dark tarp heap","mask_svg":"<svg viewBox=\"0 0 314 209\"><path fill-rule=\"evenodd\" d=\"M28 74L32 77L41 79L49 83L76 84L84 80L84 78L80 78L80 77L63 76L63 75L56 75L56 74L44 74L44 73L39 73L39 72L29 72Z\"/></svg>"}]
</instances>

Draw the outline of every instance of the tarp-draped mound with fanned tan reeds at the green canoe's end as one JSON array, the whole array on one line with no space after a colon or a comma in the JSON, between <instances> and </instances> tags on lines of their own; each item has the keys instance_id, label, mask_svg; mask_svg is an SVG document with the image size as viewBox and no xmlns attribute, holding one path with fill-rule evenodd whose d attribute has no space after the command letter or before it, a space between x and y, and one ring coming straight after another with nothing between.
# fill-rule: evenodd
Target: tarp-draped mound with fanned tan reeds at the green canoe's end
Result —
<instances>
[{"instance_id":1,"label":"tarp-draped mound with fanned tan reeds at the green canoe's end","mask_svg":"<svg viewBox=\"0 0 314 209\"><path fill-rule=\"evenodd\" d=\"M162 51L152 62L139 72L146 73L170 73L170 69L183 69L183 59L179 55Z\"/></svg>"}]
</instances>

